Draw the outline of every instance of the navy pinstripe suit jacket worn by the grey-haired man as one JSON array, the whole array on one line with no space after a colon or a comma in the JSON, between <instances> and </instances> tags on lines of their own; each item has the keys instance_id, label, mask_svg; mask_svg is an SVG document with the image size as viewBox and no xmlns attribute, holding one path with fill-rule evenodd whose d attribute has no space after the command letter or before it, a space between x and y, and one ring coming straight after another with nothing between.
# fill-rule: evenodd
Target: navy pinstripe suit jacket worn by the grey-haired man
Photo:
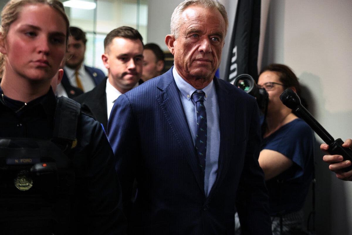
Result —
<instances>
[{"instance_id":1,"label":"navy pinstripe suit jacket worn by the grey-haired man","mask_svg":"<svg viewBox=\"0 0 352 235\"><path fill-rule=\"evenodd\" d=\"M214 85L220 153L208 197L172 68L115 102L108 137L131 234L233 234L235 205L244 234L271 234L257 102L218 78ZM134 178L138 194L131 207Z\"/></svg>"}]
</instances>

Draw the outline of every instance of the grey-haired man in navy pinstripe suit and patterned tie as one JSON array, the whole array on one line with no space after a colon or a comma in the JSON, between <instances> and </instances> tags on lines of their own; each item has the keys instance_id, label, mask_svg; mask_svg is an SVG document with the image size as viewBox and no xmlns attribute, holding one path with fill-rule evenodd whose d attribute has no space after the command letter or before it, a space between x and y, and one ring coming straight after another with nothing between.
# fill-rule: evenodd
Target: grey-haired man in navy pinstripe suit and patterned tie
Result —
<instances>
[{"instance_id":1,"label":"grey-haired man in navy pinstripe suit and patterned tie","mask_svg":"<svg viewBox=\"0 0 352 235\"><path fill-rule=\"evenodd\" d=\"M233 234L235 207L245 234L271 234L256 100L214 76L227 26L218 1L182 2L165 38L174 67L112 109L130 234Z\"/></svg>"}]
</instances>

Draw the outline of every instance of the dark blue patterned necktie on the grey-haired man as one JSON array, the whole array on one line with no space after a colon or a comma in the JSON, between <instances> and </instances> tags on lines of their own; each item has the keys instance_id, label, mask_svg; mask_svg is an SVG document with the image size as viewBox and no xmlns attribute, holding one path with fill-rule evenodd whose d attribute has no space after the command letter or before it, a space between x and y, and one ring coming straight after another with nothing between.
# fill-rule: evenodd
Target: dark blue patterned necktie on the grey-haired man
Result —
<instances>
[{"instance_id":1,"label":"dark blue patterned necktie on the grey-haired man","mask_svg":"<svg viewBox=\"0 0 352 235\"><path fill-rule=\"evenodd\" d=\"M203 91L195 91L192 94L192 99L197 105L197 135L196 135L196 150L199 158L202 172L205 172L205 157L207 153L207 112L204 106Z\"/></svg>"}]
</instances>

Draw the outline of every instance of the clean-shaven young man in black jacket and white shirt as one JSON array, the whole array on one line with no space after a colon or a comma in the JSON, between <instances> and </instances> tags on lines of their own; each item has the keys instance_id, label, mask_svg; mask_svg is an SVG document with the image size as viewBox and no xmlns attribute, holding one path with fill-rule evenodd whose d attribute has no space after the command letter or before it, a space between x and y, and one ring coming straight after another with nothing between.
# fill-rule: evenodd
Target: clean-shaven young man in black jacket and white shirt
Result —
<instances>
[{"instance_id":1,"label":"clean-shaven young man in black jacket and white shirt","mask_svg":"<svg viewBox=\"0 0 352 235\"><path fill-rule=\"evenodd\" d=\"M101 58L108 69L107 79L75 100L106 129L115 100L135 87L142 76L143 38L137 30L122 26L108 33L104 48Z\"/></svg>"}]
</instances>

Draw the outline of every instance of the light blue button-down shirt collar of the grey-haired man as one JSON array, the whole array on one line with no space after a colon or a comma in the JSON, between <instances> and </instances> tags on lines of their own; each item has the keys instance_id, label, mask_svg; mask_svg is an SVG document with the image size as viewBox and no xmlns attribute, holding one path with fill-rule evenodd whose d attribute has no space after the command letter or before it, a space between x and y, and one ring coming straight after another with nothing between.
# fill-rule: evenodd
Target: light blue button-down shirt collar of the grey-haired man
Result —
<instances>
[{"instance_id":1,"label":"light blue button-down shirt collar of the grey-haired man","mask_svg":"<svg viewBox=\"0 0 352 235\"><path fill-rule=\"evenodd\" d=\"M197 91L197 89L190 85L177 73L175 66L172 68L172 74L174 75L176 86L180 90L181 94L189 100L192 94ZM205 93L204 100L207 100L208 96L211 94L212 87L213 80L208 84L208 86L202 89L202 91Z\"/></svg>"}]
</instances>

